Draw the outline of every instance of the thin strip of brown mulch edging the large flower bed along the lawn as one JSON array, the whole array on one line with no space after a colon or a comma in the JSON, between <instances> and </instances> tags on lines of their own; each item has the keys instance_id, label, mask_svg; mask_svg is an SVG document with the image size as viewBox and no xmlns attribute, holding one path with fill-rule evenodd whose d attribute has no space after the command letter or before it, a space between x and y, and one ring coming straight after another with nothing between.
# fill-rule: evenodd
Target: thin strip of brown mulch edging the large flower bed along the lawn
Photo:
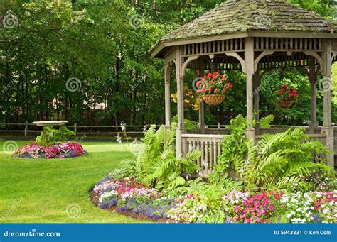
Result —
<instances>
[{"instance_id":1,"label":"thin strip of brown mulch edging the large flower bed along the lawn","mask_svg":"<svg viewBox=\"0 0 337 242\"><path fill-rule=\"evenodd\" d=\"M90 192L90 200L92 204L94 204L96 207L98 207L98 196L95 194L95 192L91 191ZM117 208L117 206L114 207L109 207L108 209L105 209L107 211L110 211L112 213L120 214L123 216L128 216L132 219L137 219L137 220L142 220L142 221L150 221L153 223L176 223L173 219L165 219L165 218L160 218L160 219L151 219L148 216L144 214L134 214L132 211L121 211Z\"/></svg>"}]
</instances>

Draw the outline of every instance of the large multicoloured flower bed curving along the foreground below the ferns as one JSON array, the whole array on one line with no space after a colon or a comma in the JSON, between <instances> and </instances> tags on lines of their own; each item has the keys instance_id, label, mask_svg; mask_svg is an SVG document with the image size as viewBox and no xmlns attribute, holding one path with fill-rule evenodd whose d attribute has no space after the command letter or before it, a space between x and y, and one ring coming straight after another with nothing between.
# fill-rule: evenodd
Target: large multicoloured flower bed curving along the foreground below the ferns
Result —
<instances>
[{"instance_id":1,"label":"large multicoloured flower bed curving along the foreground below the ferns","mask_svg":"<svg viewBox=\"0 0 337 242\"><path fill-rule=\"evenodd\" d=\"M189 223L336 223L337 192L238 192L220 199L210 193L172 197L133 178L119 179L120 170L98 182L92 192L102 209L117 208L151 219Z\"/></svg>"}]
</instances>

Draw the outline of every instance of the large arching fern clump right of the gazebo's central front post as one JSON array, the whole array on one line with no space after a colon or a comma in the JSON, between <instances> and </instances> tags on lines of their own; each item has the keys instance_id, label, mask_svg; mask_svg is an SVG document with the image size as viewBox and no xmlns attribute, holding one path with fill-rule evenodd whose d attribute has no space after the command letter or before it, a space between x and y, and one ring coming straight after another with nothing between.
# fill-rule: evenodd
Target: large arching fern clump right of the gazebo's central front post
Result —
<instances>
[{"instance_id":1,"label":"large arching fern clump right of the gazebo's central front post","mask_svg":"<svg viewBox=\"0 0 337 242\"><path fill-rule=\"evenodd\" d=\"M254 145L247 143L247 158L237 170L245 187L261 189L314 189L310 177L333 177L333 170L321 156L328 151L319 141L309 141L303 128L265 134ZM316 160L316 163L313 162Z\"/></svg>"}]
</instances>

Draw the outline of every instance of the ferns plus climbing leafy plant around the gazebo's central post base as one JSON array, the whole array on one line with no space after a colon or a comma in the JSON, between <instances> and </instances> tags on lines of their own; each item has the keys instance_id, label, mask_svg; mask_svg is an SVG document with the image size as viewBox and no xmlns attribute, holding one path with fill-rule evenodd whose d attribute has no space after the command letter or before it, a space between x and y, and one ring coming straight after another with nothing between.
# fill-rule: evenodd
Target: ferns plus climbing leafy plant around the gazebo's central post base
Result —
<instances>
[{"instance_id":1,"label":"ferns plus climbing leafy plant around the gazebo's central post base","mask_svg":"<svg viewBox=\"0 0 337 242\"><path fill-rule=\"evenodd\" d=\"M272 120L266 117L265 121ZM246 188L269 189L313 189L310 178L319 176L334 177L333 170L323 164L323 160L314 157L327 152L325 145L319 141L309 141L304 128L289 128L275 134L265 134L255 145L242 138L247 123L242 116L231 121L232 135L225 137L220 164L210 175L212 182L218 182L232 167L243 180Z\"/></svg>"}]
</instances>

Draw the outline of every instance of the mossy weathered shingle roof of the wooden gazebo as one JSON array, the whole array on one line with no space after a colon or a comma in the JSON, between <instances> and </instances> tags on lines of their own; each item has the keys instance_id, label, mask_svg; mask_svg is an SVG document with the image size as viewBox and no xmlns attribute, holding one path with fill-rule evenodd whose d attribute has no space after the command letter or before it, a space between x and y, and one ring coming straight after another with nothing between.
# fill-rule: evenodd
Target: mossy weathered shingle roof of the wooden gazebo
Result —
<instances>
[{"instance_id":1,"label":"mossy weathered shingle roof of the wooden gazebo","mask_svg":"<svg viewBox=\"0 0 337 242\"><path fill-rule=\"evenodd\" d=\"M166 42L230 33L268 31L316 34L336 33L336 30L336 23L286 0L228 0L161 38L151 51L157 47L162 50L165 46L159 45Z\"/></svg>"}]
</instances>

